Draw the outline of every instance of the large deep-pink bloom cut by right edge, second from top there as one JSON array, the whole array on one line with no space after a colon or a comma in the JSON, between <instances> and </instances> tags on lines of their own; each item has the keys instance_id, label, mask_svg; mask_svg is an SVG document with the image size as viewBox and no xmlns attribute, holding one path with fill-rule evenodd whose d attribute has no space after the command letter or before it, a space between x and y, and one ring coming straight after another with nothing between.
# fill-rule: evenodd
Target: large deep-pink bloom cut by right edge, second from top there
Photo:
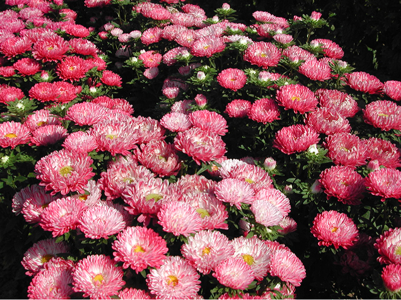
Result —
<instances>
[{"instance_id":1,"label":"large deep-pink bloom cut by right edge, second from top there","mask_svg":"<svg viewBox=\"0 0 401 300\"><path fill-rule=\"evenodd\" d=\"M401 106L389 100L376 100L366 105L363 111L365 123L381 130L401 129Z\"/></svg>"}]
</instances>

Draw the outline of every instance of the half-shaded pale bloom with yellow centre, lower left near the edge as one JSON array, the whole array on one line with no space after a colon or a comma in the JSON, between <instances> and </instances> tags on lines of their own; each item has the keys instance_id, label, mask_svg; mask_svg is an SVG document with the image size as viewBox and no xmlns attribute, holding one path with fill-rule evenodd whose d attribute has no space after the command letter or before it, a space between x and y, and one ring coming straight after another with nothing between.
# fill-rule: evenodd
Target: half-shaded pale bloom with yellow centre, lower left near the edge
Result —
<instances>
[{"instance_id":1,"label":"half-shaded pale bloom with yellow centre, lower left near the edge","mask_svg":"<svg viewBox=\"0 0 401 300\"><path fill-rule=\"evenodd\" d=\"M56 242L54 238L42 239L34 243L25 253L21 261L26 274L35 275L43 269L44 265L58 254L68 253L69 245L65 241Z\"/></svg>"}]
</instances>

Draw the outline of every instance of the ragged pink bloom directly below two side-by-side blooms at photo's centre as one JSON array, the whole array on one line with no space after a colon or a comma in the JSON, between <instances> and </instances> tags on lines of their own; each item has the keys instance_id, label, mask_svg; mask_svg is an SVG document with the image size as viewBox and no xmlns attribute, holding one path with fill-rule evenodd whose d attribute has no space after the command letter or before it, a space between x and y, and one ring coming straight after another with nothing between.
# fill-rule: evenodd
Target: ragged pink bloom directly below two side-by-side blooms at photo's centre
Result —
<instances>
[{"instance_id":1,"label":"ragged pink bloom directly below two side-by-side blooms at photo's centre","mask_svg":"<svg viewBox=\"0 0 401 300\"><path fill-rule=\"evenodd\" d=\"M174 145L199 165L200 161L216 160L226 153L226 144L220 135L197 127L178 132L174 138Z\"/></svg>"}]
</instances>

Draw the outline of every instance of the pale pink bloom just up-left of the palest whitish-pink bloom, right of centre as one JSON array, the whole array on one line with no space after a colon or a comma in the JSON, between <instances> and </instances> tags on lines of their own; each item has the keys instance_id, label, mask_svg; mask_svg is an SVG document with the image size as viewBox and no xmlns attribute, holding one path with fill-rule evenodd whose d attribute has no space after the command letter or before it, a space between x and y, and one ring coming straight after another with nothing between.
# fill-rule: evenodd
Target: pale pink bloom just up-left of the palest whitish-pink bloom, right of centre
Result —
<instances>
[{"instance_id":1,"label":"pale pink bloom just up-left of the palest whitish-pink bloom, right of centre","mask_svg":"<svg viewBox=\"0 0 401 300\"><path fill-rule=\"evenodd\" d=\"M248 183L239 178L225 178L219 181L215 187L216 197L228 202L230 205L235 205L241 209L241 203L252 204L255 199L255 190L251 183Z\"/></svg>"}]
</instances>

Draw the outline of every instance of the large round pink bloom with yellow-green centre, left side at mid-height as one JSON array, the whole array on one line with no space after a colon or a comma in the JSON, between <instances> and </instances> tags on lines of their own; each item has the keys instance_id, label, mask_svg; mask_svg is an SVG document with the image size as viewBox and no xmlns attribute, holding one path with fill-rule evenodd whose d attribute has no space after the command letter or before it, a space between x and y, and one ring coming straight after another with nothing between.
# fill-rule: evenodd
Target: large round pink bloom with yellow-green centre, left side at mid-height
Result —
<instances>
[{"instance_id":1,"label":"large round pink bloom with yellow-green centre, left side at mid-height","mask_svg":"<svg viewBox=\"0 0 401 300\"><path fill-rule=\"evenodd\" d=\"M84 193L84 186L95 174L92 172L93 160L86 153L72 153L62 149L42 157L35 165L39 185L51 190L54 195L61 192L66 195L70 191Z\"/></svg>"}]
</instances>

